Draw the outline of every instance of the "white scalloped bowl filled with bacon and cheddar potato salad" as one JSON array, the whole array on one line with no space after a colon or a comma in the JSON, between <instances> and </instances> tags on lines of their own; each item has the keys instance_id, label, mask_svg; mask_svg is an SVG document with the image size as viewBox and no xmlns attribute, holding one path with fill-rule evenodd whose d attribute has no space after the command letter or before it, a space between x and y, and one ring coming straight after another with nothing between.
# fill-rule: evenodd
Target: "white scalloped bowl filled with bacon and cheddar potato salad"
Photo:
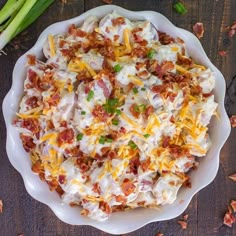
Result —
<instances>
[{"instance_id":1,"label":"white scalloped bowl filled with bacon and cheddar potato salad","mask_svg":"<svg viewBox=\"0 0 236 236\"><path fill-rule=\"evenodd\" d=\"M49 26L17 61L7 154L62 221L127 233L177 217L215 178L224 95L192 33L156 12L94 8Z\"/></svg>"}]
</instances>

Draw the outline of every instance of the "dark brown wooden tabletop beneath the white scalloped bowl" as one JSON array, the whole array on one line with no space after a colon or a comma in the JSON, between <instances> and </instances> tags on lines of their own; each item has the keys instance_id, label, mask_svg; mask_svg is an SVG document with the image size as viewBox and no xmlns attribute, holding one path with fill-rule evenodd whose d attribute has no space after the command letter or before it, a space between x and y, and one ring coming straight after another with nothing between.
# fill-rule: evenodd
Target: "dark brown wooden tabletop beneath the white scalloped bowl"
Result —
<instances>
[{"instance_id":1,"label":"dark brown wooden tabletop beneath the white scalloped bowl","mask_svg":"<svg viewBox=\"0 0 236 236\"><path fill-rule=\"evenodd\" d=\"M0 5L5 1L0 0ZM192 0L184 1L188 13L176 14L172 9L172 0L113 0L113 3L130 10L154 10L168 17L175 25L192 29L197 21L203 22L205 35L201 43L212 62L225 76L228 91L226 108L229 115L236 114L236 36L232 39L223 32L225 26L236 20L235 0ZM101 0L68 0L64 4L57 0L31 27L23 32L5 48L7 55L0 56L0 99L11 86L11 75L16 60L36 42L39 34L48 25L77 16L93 7L104 4ZM228 55L221 57L219 50L227 50ZM71 226L61 222L49 207L37 202L28 195L20 174L11 166L5 151L6 130L0 117L0 199L4 203L0 215L0 236L14 236L23 233L26 236L43 235L109 235L89 226ZM181 216L164 222L156 222L127 234L129 236L166 235L194 236L231 236L236 235L233 228L222 225L224 213L229 201L236 199L236 183L228 175L236 172L236 129L221 151L220 168L215 180L201 190L191 201L185 213L189 215L189 224L182 230L177 220ZM17 155L17 153L16 153Z\"/></svg>"}]
</instances>

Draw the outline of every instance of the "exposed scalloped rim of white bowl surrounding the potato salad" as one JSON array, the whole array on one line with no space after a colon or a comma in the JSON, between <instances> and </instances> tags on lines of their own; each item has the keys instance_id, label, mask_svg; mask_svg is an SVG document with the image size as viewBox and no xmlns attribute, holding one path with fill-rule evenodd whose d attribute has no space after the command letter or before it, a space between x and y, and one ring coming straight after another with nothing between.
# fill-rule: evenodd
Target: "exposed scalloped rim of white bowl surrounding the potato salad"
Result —
<instances>
[{"instance_id":1,"label":"exposed scalloped rim of white bowl surrounding the potato salad","mask_svg":"<svg viewBox=\"0 0 236 236\"><path fill-rule=\"evenodd\" d=\"M28 154L22 147L19 133L12 126L15 113L23 94L23 81L26 74L26 55L35 54L42 56L42 47L48 34L62 34L67 31L71 24L81 25L89 15L99 18L116 10L119 14L131 20L149 20L160 31L167 32L171 36L180 37L186 42L187 50L200 64L209 67L215 73L216 86L214 89L215 99L219 103L218 111L220 120L211 120L209 133L212 147L206 157L201 158L196 171L191 172L192 188L182 188L177 200L171 205L154 209L135 209L126 212L113 213L105 222L97 222L80 215L80 209L61 203L60 197L55 192L50 192L48 185L42 182L31 171L31 162ZM124 234L136 230L150 222L172 219L180 215L188 206L193 195L207 186L215 178L219 167L219 152L230 133L230 123L224 108L225 81L220 71L210 62L198 39L190 32L175 27L163 15L153 11L132 12L121 7L106 5L94 8L84 14L49 26L40 35L36 44L16 62L13 70L12 87L3 101L3 115L7 127L6 150L11 164L23 177L26 190L38 201L47 204L56 216L62 221L72 225L91 225L108 233Z\"/></svg>"}]
</instances>

